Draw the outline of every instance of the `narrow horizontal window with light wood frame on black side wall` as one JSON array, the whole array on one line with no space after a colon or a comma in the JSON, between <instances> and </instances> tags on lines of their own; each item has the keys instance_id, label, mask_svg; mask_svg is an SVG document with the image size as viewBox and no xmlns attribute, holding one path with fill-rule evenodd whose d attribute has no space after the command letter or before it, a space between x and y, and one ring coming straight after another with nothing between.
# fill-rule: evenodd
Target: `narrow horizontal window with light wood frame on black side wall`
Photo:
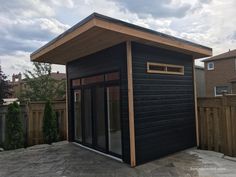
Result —
<instances>
[{"instance_id":1,"label":"narrow horizontal window with light wood frame on black side wall","mask_svg":"<svg viewBox=\"0 0 236 177\"><path fill-rule=\"evenodd\" d=\"M184 75L184 66L147 62L147 73Z\"/></svg>"}]
</instances>

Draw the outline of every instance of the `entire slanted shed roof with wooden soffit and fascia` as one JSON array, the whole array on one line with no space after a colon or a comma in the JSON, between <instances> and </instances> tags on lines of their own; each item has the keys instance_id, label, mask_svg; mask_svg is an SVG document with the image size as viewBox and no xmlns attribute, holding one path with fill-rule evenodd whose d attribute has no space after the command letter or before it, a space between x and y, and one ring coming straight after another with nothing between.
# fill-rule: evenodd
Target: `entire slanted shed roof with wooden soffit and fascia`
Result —
<instances>
[{"instance_id":1,"label":"entire slanted shed roof with wooden soffit and fascia","mask_svg":"<svg viewBox=\"0 0 236 177\"><path fill-rule=\"evenodd\" d=\"M31 61L66 64L125 41L135 41L192 55L212 56L212 49L170 35L93 13L30 55Z\"/></svg>"}]
</instances>

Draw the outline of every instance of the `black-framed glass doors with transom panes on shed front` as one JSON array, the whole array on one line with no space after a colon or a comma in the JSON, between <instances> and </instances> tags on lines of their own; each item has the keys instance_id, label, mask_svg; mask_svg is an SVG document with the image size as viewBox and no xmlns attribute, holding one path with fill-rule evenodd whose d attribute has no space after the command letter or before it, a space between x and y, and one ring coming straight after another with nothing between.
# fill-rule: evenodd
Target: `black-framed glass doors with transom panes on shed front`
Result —
<instances>
[{"instance_id":1,"label":"black-framed glass doors with transom panes on shed front","mask_svg":"<svg viewBox=\"0 0 236 177\"><path fill-rule=\"evenodd\" d=\"M122 155L119 73L76 79L75 141L96 150Z\"/></svg>"}]
</instances>

